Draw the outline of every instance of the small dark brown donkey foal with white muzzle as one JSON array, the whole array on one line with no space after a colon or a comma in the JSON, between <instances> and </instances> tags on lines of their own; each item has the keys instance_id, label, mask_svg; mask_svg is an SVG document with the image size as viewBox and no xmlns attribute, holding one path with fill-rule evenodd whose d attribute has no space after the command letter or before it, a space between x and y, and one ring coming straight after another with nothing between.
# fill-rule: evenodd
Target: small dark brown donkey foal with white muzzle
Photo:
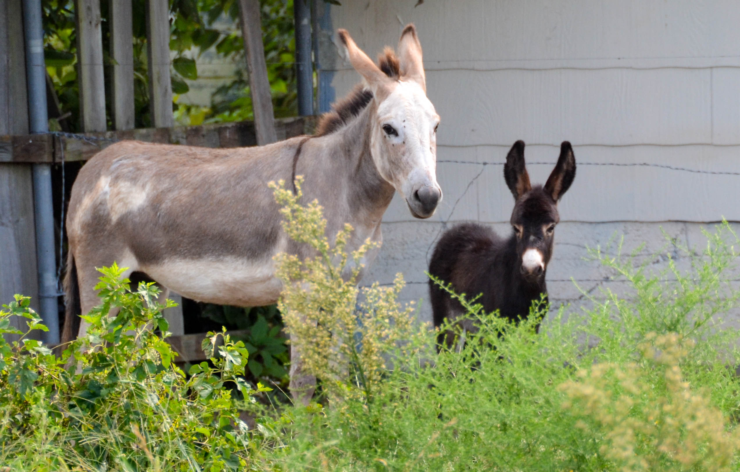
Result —
<instances>
[{"instance_id":1,"label":"small dark brown donkey foal with white muzzle","mask_svg":"<svg viewBox=\"0 0 740 472\"><path fill-rule=\"evenodd\" d=\"M504 178L514 194L511 226L506 238L478 223L462 223L440 238L429 263L429 274L451 283L457 294L482 294L485 312L499 310L502 317L519 320L529 314L534 300L547 294L545 271L553 251L557 202L576 177L576 158L568 141L545 186L532 186L524 163L524 141L517 141L506 156ZM434 326L465 312L458 300L429 280ZM469 321L462 327L471 331ZM440 344L451 347L451 333L440 334Z\"/></svg>"}]
</instances>

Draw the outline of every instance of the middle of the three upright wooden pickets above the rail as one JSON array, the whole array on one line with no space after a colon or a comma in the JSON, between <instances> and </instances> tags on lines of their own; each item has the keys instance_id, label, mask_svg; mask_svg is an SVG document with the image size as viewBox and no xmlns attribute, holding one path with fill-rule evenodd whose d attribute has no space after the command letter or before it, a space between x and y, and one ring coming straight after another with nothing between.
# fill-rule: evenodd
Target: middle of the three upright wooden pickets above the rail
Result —
<instances>
[{"instance_id":1,"label":"middle of the three upright wooden pickets above the rail","mask_svg":"<svg viewBox=\"0 0 740 472\"><path fill-rule=\"evenodd\" d=\"M108 0L112 120L115 129L134 127L134 50L131 0Z\"/></svg>"}]
</instances>

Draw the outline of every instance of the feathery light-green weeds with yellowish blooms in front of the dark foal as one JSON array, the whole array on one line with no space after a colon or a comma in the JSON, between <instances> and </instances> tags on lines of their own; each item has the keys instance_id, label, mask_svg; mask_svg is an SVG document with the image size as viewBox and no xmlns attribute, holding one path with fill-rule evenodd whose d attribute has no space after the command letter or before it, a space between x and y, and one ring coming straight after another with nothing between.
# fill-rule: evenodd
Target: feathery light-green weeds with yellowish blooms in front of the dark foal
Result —
<instances>
[{"instance_id":1,"label":"feathery light-green weeds with yellowish blooms in front of the dark foal","mask_svg":"<svg viewBox=\"0 0 740 472\"><path fill-rule=\"evenodd\" d=\"M366 248L342 254L326 240L316 202L300 206L300 194L280 188L276 195L286 206L286 231L320 254L280 258L283 280L303 282L283 292L281 310L292 312L286 324L300 347L312 350L314 373L340 392L340 401L268 411L262 422L275 438L272 468L740 470L734 422L740 381L729 367L738 359L738 333L721 323L739 296L730 286L736 253L727 243L737 238L726 223L706 233L703 254L682 249L692 261L687 272L670 254L665 272L650 273L631 257L593 252L628 281L629 296L605 291L589 309L563 307L539 334L543 306L514 324L463 299L479 331L465 334L460 351L436 354L434 332L386 323L383 310L356 311L352 279L340 274ZM340 232L337 246L349 232ZM399 287L386 292L385 306L395 303ZM398 321L405 311L392 313ZM362 364L374 372L371 394L342 395L363 382L357 365L350 376L333 366L357 364L374 344L382 354Z\"/></svg>"}]
</instances>

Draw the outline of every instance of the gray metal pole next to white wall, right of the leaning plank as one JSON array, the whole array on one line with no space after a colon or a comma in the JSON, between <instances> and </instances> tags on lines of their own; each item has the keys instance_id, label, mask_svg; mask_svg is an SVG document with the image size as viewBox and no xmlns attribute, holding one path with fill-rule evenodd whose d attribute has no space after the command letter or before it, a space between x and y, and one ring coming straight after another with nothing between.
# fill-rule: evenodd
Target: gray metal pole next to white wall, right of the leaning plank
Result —
<instances>
[{"instance_id":1,"label":"gray metal pole next to white wall, right of the leaning plank","mask_svg":"<svg viewBox=\"0 0 740 472\"><path fill-rule=\"evenodd\" d=\"M311 6L309 0L294 0L295 66L298 82L298 115L314 112L314 70L311 63Z\"/></svg>"}]
</instances>

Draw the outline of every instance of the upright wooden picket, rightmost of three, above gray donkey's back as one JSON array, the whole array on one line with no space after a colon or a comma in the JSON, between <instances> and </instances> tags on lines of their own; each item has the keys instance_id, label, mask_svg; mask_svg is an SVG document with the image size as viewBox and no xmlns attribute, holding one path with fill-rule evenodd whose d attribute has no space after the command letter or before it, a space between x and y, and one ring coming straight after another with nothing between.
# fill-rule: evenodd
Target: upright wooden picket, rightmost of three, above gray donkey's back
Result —
<instances>
[{"instance_id":1,"label":"upright wooden picket, rightmost of three, above gray donkey's back","mask_svg":"<svg viewBox=\"0 0 740 472\"><path fill-rule=\"evenodd\" d=\"M149 97L152 124L169 128L172 115L172 84L169 78L169 2L147 1L147 53L149 54Z\"/></svg>"}]
</instances>

